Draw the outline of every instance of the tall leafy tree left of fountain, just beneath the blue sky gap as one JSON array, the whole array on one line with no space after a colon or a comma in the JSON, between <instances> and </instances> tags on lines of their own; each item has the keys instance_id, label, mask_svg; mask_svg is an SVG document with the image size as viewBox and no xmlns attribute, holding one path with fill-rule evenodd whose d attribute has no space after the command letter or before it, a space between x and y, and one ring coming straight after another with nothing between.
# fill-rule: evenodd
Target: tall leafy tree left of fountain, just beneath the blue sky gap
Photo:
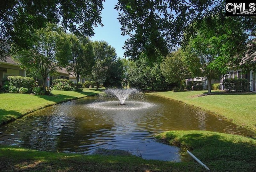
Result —
<instances>
[{"instance_id":1,"label":"tall leafy tree left of fountain, just beneath the blue sky gap","mask_svg":"<svg viewBox=\"0 0 256 172\"><path fill-rule=\"evenodd\" d=\"M116 60L116 50L105 41L93 42L95 64L92 67L92 79L97 84L103 83L110 72L111 64Z\"/></svg>"}]
</instances>

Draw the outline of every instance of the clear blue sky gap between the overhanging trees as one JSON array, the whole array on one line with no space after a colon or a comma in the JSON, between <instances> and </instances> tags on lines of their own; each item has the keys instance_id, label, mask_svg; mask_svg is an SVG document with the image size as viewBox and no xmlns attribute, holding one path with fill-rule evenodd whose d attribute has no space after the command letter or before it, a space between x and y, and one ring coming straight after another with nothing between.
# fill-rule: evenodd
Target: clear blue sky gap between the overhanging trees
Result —
<instances>
[{"instance_id":1,"label":"clear blue sky gap between the overhanging trees","mask_svg":"<svg viewBox=\"0 0 256 172\"><path fill-rule=\"evenodd\" d=\"M108 44L116 49L117 57L123 58L125 40L128 36L122 36L120 27L121 25L118 22L118 12L114 9L114 6L117 4L118 0L106 0L102 10L102 24L103 27L98 26L94 29L94 36L92 36L92 41L104 40Z\"/></svg>"}]
</instances>

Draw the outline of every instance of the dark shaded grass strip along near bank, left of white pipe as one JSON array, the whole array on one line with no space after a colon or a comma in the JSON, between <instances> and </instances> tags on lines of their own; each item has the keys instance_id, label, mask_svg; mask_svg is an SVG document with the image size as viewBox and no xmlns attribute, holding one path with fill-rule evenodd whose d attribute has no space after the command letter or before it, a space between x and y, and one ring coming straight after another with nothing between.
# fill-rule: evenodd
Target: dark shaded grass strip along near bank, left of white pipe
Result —
<instances>
[{"instance_id":1,"label":"dark shaded grass strip along near bank, left of white pipe","mask_svg":"<svg viewBox=\"0 0 256 172\"><path fill-rule=\"evenodd\" d=\"M0 146L1 171L204 171L194 163L143 160L136 156L102 156L40 152ZM158 170L156 170L158 169Z\"/></svg>"}]
</instances>

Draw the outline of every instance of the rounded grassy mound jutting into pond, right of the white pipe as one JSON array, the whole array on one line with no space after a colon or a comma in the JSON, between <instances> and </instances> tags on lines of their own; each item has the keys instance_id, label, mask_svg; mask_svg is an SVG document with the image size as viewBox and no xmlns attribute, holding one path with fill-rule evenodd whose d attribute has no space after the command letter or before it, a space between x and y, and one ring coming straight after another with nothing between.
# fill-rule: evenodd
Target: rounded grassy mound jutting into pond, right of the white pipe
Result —
<instances>
[{"instance_id":1,"label":"rounded grassy mound jutting into pond, right of the white pipe","mask_svg":"<svg viewBox=\"0 0 256 172\"><path fill-rule=\"evenodd\" d=\"M211 171L255 172L256 140L209 131L169 131L156 136L190 150Z\"/></svg>"}]
</instances>

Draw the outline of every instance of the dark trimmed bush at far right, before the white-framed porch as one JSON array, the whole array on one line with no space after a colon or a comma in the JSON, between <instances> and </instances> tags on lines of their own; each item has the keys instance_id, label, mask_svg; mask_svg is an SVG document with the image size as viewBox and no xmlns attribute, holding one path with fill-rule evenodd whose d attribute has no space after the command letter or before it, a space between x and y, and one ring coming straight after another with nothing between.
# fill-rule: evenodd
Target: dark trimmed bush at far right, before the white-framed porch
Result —
<instances>
[{"instance_id":1,"label":"dark trimmed bush at far right, before the white-framed porch","mask_svg":"<svg viewBox=\"0 0 256 172\"><path fill-rule=\"evenodd\" d=\"M222 84L227 92L247 92L250 85L248 80L240 78L225 79Z\"/></svg>"}]
</instances>

